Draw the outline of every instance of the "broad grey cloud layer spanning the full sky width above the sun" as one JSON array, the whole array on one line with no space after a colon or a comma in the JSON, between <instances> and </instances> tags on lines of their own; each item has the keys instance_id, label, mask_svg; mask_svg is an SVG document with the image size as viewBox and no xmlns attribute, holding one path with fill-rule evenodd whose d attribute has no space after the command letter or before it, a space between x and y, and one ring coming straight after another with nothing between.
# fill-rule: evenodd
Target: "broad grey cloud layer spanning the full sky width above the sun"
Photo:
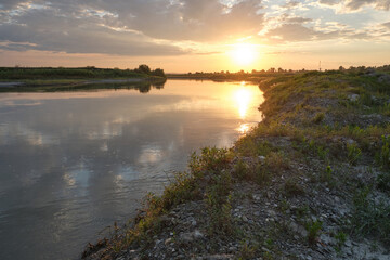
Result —
<instances>
[{"instance_id":1,"label":"broad grey cloud layer spanning the full sky width above the sun","mask_svg":"<svg viewBox=\"0 0 390 260\"><path fill-rule=\"evenodd\" d=\"M340 12L332 13L332 17L327 13L318 15L322 8L348 13L364 6L377 10L390 6L390 0L277 2L275 5L274 1L261 0L2 0L0 49L181 55L213 53L202 47L248 39L259 31L271 42L368 39L385 32L358 28L353 25L359 18L351 18L350 23L349 17L339 20L343 15ZM389 28L388 23L381 24L381 30Z\"/></svg>"}]
</instances>

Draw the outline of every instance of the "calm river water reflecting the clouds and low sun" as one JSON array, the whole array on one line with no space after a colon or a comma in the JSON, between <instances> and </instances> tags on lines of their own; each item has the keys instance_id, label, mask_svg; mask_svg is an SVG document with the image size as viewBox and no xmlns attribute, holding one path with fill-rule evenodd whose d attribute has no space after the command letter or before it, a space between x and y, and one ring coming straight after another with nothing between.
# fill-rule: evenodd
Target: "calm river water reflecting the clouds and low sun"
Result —
<instances>
[{"instance_id":1,"label":"calm river water reflecting the clouds and low sun","mask_svg":"<svg viewBox=\"0 0 390 260\"><path fill-rule=\"evenodd\" d=\"M188 155L231 146L262 118L257 86L0 93L0 259L76 259L134 216Z\"/></svg>"}]
</instances>

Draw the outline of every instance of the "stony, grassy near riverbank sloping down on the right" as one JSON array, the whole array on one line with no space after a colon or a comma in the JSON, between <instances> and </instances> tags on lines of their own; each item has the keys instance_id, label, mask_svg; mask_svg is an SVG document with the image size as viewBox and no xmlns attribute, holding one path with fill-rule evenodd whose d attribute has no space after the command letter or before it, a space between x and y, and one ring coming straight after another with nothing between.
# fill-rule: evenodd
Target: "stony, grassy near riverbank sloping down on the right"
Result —
<instances>
[{"instance_id":1,"label":"stony, grassy near riverbank sloping down on the right","mask_svg":"<svg viewBox=\"0 0 390 260\"><path fill-rule=\"evenodd\" d=\"M388 259L390 76L262 80L265 120L190 171L84 259Z\"/></svg>"}]
</instances>

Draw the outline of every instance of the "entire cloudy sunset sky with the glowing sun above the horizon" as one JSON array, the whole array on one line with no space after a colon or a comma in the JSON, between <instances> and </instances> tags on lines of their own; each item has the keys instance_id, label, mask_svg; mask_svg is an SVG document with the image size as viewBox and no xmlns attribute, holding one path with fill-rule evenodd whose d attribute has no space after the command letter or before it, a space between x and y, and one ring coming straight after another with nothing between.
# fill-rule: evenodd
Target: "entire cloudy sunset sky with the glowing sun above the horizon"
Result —
<instances>
[{"instance_id":1,"label":"entire cloudy sunset sky with the glowing sun above the horizon","mask_svg":"<svg viewBox=\"0 0 390 260\"><path fill-rule=\"evenodd\" d=\"M187 73L320 61L390 64L390 0L0 0L0 66Z\"/></svg>"}]
</instances>

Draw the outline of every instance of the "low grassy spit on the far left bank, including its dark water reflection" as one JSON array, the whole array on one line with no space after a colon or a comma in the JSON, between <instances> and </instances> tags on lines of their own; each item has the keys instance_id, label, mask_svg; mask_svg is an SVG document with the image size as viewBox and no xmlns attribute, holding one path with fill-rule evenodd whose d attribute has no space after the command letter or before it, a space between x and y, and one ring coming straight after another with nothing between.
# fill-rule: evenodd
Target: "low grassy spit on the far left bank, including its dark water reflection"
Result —
<instances>
[{"instance_id":1,"label":"low grassy spit on the far left bank, including its dark water reflection","mask_svg":"<svg viewBox=\"0 0 390 260\"><path fill-rule=\"evenodd\" d=\"M135 69L118 68L52 68L0 67L0 92L52 92L80 89L135 88L162 86L162 69L152 70L147 65Z\"/></svg>"}]
</instances>

